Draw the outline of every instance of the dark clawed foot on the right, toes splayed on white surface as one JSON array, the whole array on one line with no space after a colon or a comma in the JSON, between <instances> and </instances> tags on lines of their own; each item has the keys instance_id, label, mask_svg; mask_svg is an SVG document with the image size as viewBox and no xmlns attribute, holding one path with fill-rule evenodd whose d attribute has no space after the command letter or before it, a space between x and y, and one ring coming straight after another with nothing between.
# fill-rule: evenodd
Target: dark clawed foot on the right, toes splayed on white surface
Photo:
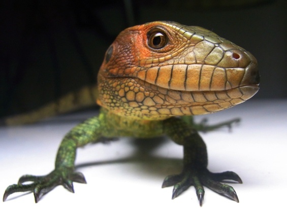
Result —
<instances>
[{"instance_id":1,"label":"dark clawed foot on the right, toes splayed on white surface","mask_svg":"<svg viewBox=\"0 0 287 209\"><path fill-rule=\"evenodd\" d=\"M179 175L170 175L166 177L162 188L174 186L172 193L172 199L174 199L188 189L188 187L194 186L200 206L202 206L204 198L203 185L221 195L227 196L234 201L239 202L233 187L227 184L219 183L222 180L233 180L235 182L242 183L240 177L232 171L212 173L207 169L196 170L189 167L185 168Z\"/></svg>"}]
</instances>

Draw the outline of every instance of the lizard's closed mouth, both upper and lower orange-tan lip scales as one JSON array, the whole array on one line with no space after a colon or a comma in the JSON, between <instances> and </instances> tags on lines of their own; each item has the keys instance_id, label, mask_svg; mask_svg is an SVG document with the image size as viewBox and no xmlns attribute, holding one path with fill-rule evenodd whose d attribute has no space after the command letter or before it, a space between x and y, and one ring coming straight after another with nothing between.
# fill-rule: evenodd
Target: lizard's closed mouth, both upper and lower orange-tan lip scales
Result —
<instances>
[{"instance_id":1,"label":"lizard's closed mouth, both upper and lower orange-tan lip scales","mask_svg":"<svg viewBox=\"0 0 287 209\"><path fill-rule=\"evenodd\" d=\"M173 71L169 71L169 67ZM189 77L186 69L188 66L174 65L156 67L156 74L153 72L155 68L149 68L145 77L139 74L138 79L146 89L158 91L157 96L147 99L150 102L146 105L155 107L161 115L202 115L238 105L259 90L260 76L256 63L250 62L245 68L193 65ZM162 100L158 97L164 102L160 102Z\"/></svg>"}]
</instances>

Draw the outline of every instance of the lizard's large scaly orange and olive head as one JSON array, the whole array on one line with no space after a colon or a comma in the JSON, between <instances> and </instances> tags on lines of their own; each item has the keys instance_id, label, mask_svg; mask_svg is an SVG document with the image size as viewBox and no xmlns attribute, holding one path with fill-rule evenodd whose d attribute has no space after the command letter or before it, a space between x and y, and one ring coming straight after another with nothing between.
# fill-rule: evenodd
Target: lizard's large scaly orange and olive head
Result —
<instances>
[{"instance_id":1,"label":"lizard's large scaly orange and olive head","mask_svg":"<svg viewBox=\"0 0 287 209\"><path fill-rule=\"evenodd\" d=\"M198 26L151 22L123 30L98 74L99 105L141 119L214 113L259 90L257 60Z\"/></svg>"}]
</instances>

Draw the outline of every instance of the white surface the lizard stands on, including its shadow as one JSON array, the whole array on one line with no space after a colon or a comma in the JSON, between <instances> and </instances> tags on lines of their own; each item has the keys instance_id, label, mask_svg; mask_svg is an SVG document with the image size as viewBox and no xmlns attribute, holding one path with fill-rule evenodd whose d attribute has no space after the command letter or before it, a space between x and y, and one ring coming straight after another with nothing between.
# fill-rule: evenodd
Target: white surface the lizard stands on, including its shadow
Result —
<instances>
[{"instance_id":1,"label":"white surface the lizard stands on, including its shadow","mask_svg":"<svg viewBox=\"0 0 287 209\"><path fill-rule=\"evenodd\" d=\"M57 117L34 125L0 128L2 195L20 176L45 175L53 169L61 138L83 115L77 117L78 121L74 114L72 121ZM240 125L231 133L225 128L201 135L208 147L208 168L235 171L243 184L230 184L240 203L205 188L202 208L284 208L287 100L251 99L205 117L211 124L241 117ZM0 208L200 208L193 187L174 200L172 187L161 188L167 175L181 170L180 146L167 141L148 155L147 148L140 146L142 152L137 152L138 146L131 142L122 139L79 149L76 165L87 184L74 183L75 194L59 186L35 204L33 194L17 193L1 202Z\"/></svg>"}]
</instances>

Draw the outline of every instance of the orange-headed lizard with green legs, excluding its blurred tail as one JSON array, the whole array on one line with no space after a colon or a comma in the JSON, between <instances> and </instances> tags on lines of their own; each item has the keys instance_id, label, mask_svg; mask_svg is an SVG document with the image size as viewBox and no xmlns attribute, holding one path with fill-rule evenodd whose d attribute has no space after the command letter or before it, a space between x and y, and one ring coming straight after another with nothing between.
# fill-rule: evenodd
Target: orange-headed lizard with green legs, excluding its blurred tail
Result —
<instances>
[{"instance_id":1,"label":"orange-headed lizard with green legs, excluding its blurred tail","mask_svg":"<svg viewBox=\"0 0 287 209\"><path fill-rule=\"evenodd\" d=\"M207 150L194 115L215 113L242 103L259 90L256 58L245 49L199 26L154 21L126 28L105 53L95 95L100 113L68 132L58 148L55 168L46 176L22 176L7 187L3 201L15 192L33 191L35 202L62 185L86 183L75 171L76 150L103 138L169 137L183 146L183 169L165 178L172 199L194 186L203 204L204 187L239 202L222 180L242 183L233 171L207 169ZM229 125L234 121L219 124ZM23 184L32 182L30 184Z\"/></svg>"}]
</instances>

